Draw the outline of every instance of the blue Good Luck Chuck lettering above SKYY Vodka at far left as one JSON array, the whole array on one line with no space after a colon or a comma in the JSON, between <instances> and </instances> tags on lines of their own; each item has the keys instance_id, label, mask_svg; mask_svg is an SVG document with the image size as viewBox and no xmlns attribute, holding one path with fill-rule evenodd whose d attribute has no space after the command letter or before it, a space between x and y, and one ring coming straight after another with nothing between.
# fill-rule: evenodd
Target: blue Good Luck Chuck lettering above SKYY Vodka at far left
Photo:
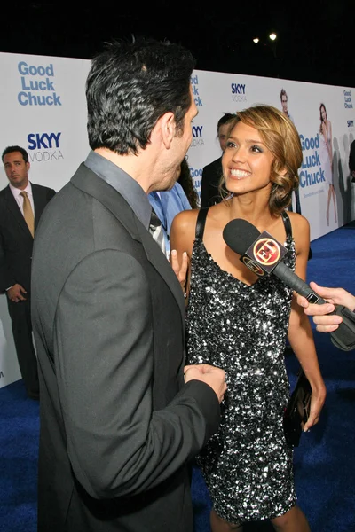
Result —
<instances>
[{"instance_id":1,"label":"blue Good Luck Chuck lettering above SKYY Vodka at far left","mask_svg":"<svg viewBox=\"0 0 355 532\"><path fill-rule=\"evenodd\" d=\"M60 96L55 92L52 63L35 66L20 61L18 70L21 90L17 99L20 106L61 106Z\"/></svg>"}]
</instances>

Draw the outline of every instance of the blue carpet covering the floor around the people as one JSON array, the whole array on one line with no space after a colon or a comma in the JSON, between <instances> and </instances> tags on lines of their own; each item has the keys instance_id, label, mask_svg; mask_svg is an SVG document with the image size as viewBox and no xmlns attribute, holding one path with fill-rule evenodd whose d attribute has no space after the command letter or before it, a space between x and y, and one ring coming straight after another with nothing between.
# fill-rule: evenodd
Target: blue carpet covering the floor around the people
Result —
<instances>
[{"instance_id":1,"label":"blue carpet covering the floor around the people","mask_svg":"<svg viewBox=\"0 0 355 532\"><path fill-rule=\"evenodd\" d=\"M314 240L312 252L308 282L355 293L355 222ZM327 401L319 424L302 435L295 450L298 502L312 532L355 532L355 351L334 348L327 334L315 330L314 337ZM286 364L292 384L295 356L288 355ZM0 389L0 408L0 530L36 532L39 404L26 397L19 380ZM195 532L209 532L210 499L196 467L193 507ZM246 532L271 530L268 523L245 527Z\"/></svg>"}]
</instances>

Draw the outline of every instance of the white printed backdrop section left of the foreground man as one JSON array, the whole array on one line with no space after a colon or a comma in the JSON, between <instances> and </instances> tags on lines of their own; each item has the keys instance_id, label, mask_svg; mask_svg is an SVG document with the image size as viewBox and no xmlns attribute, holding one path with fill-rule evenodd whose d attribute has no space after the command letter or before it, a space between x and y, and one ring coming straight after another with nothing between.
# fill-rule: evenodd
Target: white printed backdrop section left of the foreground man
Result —
<instances>
[{"instance_id":1,"label":"white printed backdrop section left of the foreground man","mask_svg":"<svg viewBox=\"0 0 355 532\"><path fill-rule=\"evenodd\" d=\"M29 180L57 192L86 157L84 86L88 61L0 53L1 152L28 152ZM8 184L4 166L0 189ZM0 294L0 387L20 379L6 295Z\"/></svg>"}]
</instances>

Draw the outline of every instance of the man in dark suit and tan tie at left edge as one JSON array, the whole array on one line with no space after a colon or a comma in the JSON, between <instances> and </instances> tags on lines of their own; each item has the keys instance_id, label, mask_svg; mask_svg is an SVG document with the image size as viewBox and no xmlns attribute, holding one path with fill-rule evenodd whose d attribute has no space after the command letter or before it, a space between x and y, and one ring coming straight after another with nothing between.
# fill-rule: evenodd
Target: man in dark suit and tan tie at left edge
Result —
<instances>
[{"instance_id":1,"label":"man in dark suit and tan tie at left edge","mask_svg":"<svg viewBox=\"0 0 355 532\"><path fill-rule=\"evenodd\" d=\"M30 183L30 162L24 148L8 146L2 160L9 184L0 192L0 291L6 293L16 355L28 397L39 399L30 312L31 259L39 220L55 191Z\"/></svg>"}]
</instances>

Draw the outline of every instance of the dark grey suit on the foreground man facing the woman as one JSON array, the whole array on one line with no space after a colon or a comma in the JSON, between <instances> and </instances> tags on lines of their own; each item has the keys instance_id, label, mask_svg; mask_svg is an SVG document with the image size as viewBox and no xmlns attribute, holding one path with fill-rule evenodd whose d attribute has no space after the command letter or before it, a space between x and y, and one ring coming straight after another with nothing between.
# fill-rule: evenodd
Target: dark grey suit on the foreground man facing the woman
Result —
<instances>
[{"instance_id":1,"label":"dark grey suit on the foreground man facing the woman","mask_svg":"<svg viewBox=\"0 0 355 532\"><path fill-rule=\"evenodd\" d=\"M39 532L192 532L186 463L217 430L217 395L184 386L185 301L170 263L85 165L43 215L32 288Z\"/></svg>"}]
</instances>

